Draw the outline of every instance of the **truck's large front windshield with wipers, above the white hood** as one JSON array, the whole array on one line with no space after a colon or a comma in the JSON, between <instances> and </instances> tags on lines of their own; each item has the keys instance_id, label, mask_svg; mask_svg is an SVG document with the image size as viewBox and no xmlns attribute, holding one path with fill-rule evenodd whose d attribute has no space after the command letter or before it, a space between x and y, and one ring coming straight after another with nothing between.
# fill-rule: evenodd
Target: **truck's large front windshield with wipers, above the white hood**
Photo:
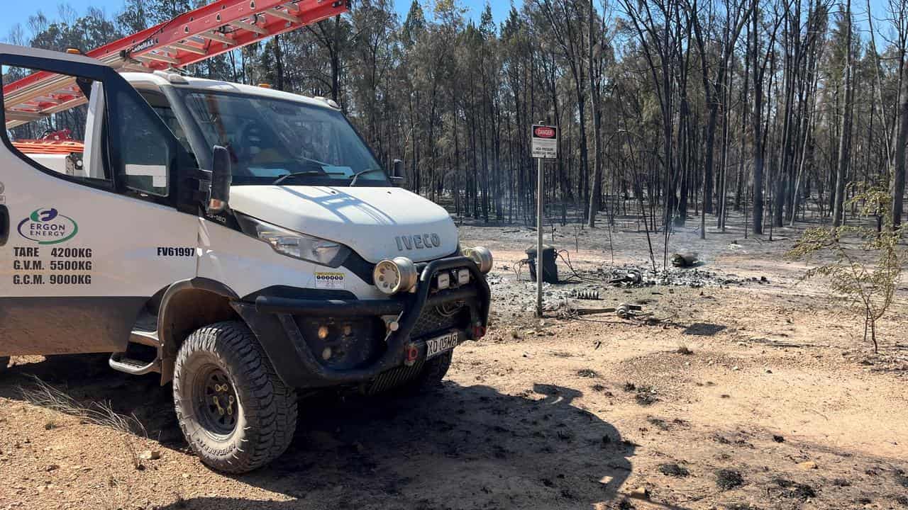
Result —
<instances>
[{"instance_id":1,"label":"truck's large front windshield with wipers, above the white hood","mask_svg":"<svg viewBox=\"0 0 908 510\"><path fill-rule=\"evenodd\" d=\"M231 152L234 184L390 184L340 112L248 94L187 91L184 97L205 142Z\"/></svg>"}]
</instances>

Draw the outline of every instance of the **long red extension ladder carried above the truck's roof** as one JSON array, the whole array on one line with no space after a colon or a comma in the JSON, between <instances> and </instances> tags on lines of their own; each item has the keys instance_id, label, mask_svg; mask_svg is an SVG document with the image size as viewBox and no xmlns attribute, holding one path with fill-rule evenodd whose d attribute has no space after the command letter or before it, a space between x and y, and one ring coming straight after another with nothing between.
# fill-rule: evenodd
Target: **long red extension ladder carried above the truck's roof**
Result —
<instances>
[{"instance_id":1,"label":"long red extension ladder carried above the truck's roof","mask_svg":"<svg viewBox=\"0 0 908 510\"><path fill-rule=\"evenodd\" d=\"M217 0L86 55L122 71L179 68L348 10L350 0ZM44 72L3 93L7 129L85 102L73 77Z\"/></svg>"}]
</instances>

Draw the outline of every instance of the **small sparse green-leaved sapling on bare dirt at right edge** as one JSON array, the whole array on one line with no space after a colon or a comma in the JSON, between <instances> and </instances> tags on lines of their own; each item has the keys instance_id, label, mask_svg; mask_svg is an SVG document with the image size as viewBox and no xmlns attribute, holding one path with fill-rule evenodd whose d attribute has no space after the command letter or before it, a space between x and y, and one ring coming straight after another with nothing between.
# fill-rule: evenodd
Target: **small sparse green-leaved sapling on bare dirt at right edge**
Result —
<instances>
[{"instance_id":1,"label":"small sparse green-leaved sapling on bare dirt at right edge","mask_svg":"<svg viewBox=\"0 0 908 510\"><path fill-rule=\"evenodd\" d=\"M856 208L864 222L874 218L882 228L844 225L808 229L787 257L824 260L808 270L804 279L828 279L830 289L844 299L844 306L864 318L864 340L869 332L873 350L877 351L876 322L893 304L895 289L908 264L908 249L902 244L908 228L903 225L893 229L891 222L880 221L888 218L886 211L892 200L889 191L879 187L855 188L857 192L848 205Z\"/></svg>"}]
</instances>

